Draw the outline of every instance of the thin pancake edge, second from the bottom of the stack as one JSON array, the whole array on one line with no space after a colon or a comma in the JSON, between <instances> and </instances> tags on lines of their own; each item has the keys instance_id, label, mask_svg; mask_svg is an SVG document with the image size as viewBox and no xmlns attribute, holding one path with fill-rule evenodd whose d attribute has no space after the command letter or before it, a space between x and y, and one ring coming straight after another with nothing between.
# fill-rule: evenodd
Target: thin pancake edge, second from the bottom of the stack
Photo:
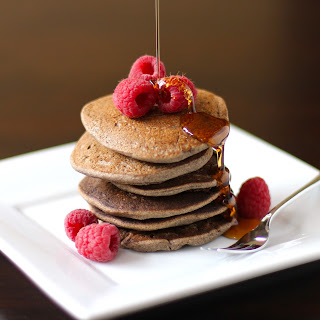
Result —
<instances>
[{"instance_id":1,"label":"thin pancake edge, second from the bottom of the stack","mask_svg":"<svg viewBox=\"0 0 320 320\"><path fill-rule=\"evenodd\" d=\"M94 206L90 206L90 210L98 219L112 223L117 227L139 231L153 231L183 226L186 224L194 223L196 221L205 220L227 211L227 207L211 202L200 209L185 214L180 214L178 216L145 220L117 217L105 213Z\"/></svg>"}]
</instances>

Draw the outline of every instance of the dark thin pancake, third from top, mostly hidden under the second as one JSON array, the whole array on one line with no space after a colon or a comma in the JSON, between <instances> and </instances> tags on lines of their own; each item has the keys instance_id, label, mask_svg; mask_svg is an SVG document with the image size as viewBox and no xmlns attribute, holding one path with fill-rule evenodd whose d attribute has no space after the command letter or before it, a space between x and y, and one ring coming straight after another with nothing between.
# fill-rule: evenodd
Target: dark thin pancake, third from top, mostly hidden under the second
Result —
<instances>
[{"instance_id":1,"label":"dark thin pancake, third from top, mostly hidden under the second","mask_svg":"<svg viewBox=\"0 0 320 320\"><path fill-rule=\"evenodd\" d=\"M184 191L199 191L217 186L217 181L212 178L217 170L215 156L199 170L170 179L158 184L144 186L114 183L119 189L149 197L172 196Z\"/></svg>"}]
</instances>

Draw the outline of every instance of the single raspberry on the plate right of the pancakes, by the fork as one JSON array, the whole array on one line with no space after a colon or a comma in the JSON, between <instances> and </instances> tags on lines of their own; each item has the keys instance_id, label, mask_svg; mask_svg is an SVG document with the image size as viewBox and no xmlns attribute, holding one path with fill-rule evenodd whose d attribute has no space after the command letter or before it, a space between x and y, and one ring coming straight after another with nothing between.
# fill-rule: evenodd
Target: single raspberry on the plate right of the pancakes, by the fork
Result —
<instances>
[{"instance_id":1,"label":"single raspberry on the plate right of the pancakes, by the fork","mask_svg":"<svg viewBox=\"0 0 320 320\"><path fill-rule=\"evenodd\" d=\"M266 182L255 177L244 182L237 198L238 215L261 220L270 208L270 193Z\"/></svg>"}]
</instances>

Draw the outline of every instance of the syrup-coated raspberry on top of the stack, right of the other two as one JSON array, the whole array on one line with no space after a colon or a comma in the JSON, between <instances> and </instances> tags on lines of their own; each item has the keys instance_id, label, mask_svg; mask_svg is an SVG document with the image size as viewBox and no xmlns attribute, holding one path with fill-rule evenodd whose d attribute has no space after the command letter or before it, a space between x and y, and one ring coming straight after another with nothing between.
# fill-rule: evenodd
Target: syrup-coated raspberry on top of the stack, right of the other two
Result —
<instances>
[{"instance_id":1,"label":"syrup-coated raspberry on top of the stack, right of the other two","mask_svg":"<svg viewBox=\"0 0 320 320\"><path fill-rule=\"evenodd\" d=\"M164 113L179 112L188 108L197 97L193 83L184 76L170 76L157 82L158 106ZM191 90L191 92L190 92Z\"/></svg>"}]
</instances>

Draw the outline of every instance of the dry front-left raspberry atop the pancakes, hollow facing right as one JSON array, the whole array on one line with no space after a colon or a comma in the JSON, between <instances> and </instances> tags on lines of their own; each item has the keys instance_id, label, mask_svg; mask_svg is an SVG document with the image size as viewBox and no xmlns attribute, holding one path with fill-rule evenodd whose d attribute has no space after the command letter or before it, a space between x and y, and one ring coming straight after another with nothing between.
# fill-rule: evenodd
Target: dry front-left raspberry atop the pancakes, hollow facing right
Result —
<instances>
[{"instance_id":1,"label":"dry front-left raspberry atop the pancakes, hollow facing right","mask_svg":"<svg viewBox=\"0 0 320 320\"><path fill-rule=\"evenodd\" d=\"M129 118L144 116L156 101L153 85L144 79L124 79L113 93L114 105Z\"/></svg>"}]
</instances>

